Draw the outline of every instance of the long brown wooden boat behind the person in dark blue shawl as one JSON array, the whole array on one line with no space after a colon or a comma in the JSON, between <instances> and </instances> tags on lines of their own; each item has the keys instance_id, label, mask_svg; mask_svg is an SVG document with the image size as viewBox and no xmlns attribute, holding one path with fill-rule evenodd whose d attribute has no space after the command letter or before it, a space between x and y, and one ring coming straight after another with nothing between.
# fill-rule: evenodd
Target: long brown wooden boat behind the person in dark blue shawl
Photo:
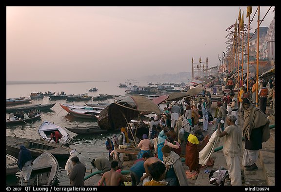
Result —
<instances>
[{"instance_id":1,"label":"long brown wooden boat behind the person in dark blue shawl","mask_svg":"<svg viewBox=\"0 0 281 192\"><path fill-rule=\"evenodd\" d=\"M70 151L69 147L64 145L58 145L55 143L49 143L44 140L35 140L22 138L17 136L6 136L6 149L9 155L17 157L20 152L20 146L23 145L30 150L33 158L38 157L45 151L52 153L57 159L68 159Z\"/></svg>"}]
</instances>

